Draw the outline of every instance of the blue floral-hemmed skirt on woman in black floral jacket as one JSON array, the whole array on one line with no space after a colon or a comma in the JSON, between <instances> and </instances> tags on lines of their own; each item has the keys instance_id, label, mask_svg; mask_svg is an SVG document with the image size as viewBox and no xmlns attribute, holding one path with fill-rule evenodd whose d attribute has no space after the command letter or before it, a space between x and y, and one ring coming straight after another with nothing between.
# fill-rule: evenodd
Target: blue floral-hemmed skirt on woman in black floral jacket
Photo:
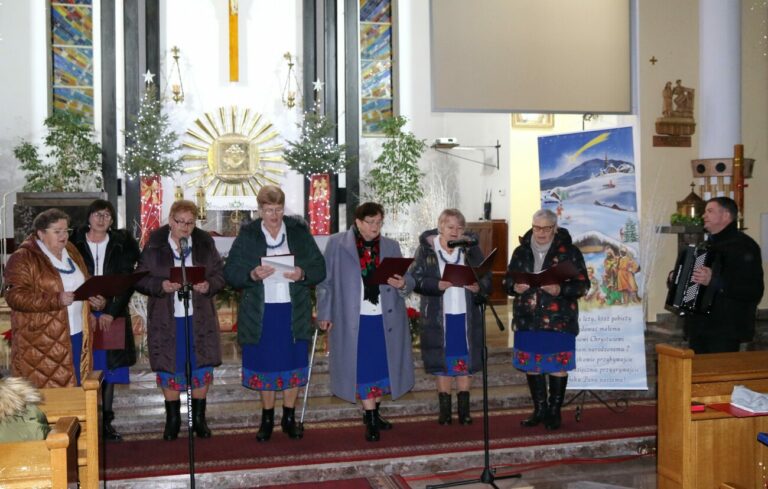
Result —
<instances>
[{"instance_id":1,"label":"blue floral-hemmed skirt on woman in black floral jacket","mask_svg":"<svg viewBox=\"0 0 768 489\"><path fill-rule=\"evenodd\" d=\"M558 331L515 331L512 364L531 373L568 372L576 368L576 335Z\"/></svg>"}]
</instances>

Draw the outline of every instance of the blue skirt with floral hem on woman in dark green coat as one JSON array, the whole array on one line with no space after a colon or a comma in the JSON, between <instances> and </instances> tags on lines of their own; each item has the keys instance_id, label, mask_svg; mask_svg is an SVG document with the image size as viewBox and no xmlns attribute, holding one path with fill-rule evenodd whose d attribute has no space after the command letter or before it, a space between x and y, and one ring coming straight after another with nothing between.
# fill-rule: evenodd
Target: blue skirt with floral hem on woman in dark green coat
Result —
<instances>
[{"instance_id":1,"label":"blue skirt with floral hem on woman in dark green coat","mask_svg":"<svg viewBox=\"0 0 768 489\"><path fill-rule=\"evenodd\" d=\"M243 345L243 386L282 391L307 383L309 342L294 340L291 303L264 304L261 338Z\"/></svg>"}]
</instances>

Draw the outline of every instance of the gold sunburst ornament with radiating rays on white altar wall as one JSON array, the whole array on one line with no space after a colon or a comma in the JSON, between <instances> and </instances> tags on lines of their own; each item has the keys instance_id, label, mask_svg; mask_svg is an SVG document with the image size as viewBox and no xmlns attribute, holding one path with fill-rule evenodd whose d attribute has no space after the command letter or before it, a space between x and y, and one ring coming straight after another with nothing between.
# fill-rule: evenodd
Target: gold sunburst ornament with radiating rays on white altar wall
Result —
<instances>
[{"instance_id":1,"label":"gold sunburst ornament with radiating rays on white altar wall","mask_svg":"<svg viewBox=\"0 0 768 489\"><path fill-rule=\"evenodd\" d=\"M283 161L283 144L272 123L258 112L219 107L218 118L206 112L186 134L183 159L203 162L184 169L199 173L186 185L203 187L207 195L256 195L264 185L279 185L277 177L285 173L270 165Z\"/></svg>"}]
</instances>

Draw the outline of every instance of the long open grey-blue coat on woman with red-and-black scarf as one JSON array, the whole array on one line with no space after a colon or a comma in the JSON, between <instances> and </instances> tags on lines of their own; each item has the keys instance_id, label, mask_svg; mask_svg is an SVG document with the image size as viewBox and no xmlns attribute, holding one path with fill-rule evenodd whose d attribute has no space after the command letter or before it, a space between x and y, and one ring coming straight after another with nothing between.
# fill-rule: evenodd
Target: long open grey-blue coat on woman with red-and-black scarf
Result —
<instances>
[{"instance_id":1,"label":"long open grey-blue coat on woman with red-and-black scarf","mask_svg":"<svg viewBox=\"0 0 768 489\"><path fill-rule=\"evenodd\" d=\"M383 236L380 253L381 260L402 256L400 245ZM363 281L354 231L350 229L330 237L325 248L325 266L328 277L317 287L317 319L333 324L329 333L331 392L345 401L355 402ZM389 285L379 286L393 399L411 390L414 383L413 347L404 300L411 289L413 279L409 276L406 276L405 291Z\"/></svg>"}]
</instances>

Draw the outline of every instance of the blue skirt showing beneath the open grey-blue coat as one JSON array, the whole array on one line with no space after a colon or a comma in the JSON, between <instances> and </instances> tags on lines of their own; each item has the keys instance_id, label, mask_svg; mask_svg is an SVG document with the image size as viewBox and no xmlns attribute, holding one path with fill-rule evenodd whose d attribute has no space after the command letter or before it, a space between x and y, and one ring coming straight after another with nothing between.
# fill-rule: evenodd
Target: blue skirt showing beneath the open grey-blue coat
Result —
<instances>
[{"instance_id":1,"label":"blue skirt showing beneath the open grey-blue coat","mask_svg":"<svg viewBox=\"0 0 768 489\"><path fill-rule=\"evenodd\" d=\"M391 392L384 318L381 314L360 316L360 328L357 333L356 396L358 399L376 399Z\"/></svg>"}]
</instances>

